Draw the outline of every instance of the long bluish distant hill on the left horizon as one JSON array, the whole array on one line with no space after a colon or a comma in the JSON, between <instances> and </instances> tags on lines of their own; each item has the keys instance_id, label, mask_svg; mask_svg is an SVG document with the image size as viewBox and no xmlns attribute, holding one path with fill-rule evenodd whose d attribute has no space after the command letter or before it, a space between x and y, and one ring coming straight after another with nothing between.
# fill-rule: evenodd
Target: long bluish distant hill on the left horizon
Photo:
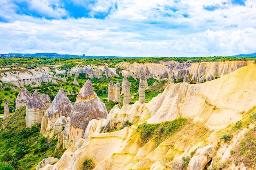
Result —
<instances>
[{"instance_id":1,"label":"long bluish distant hill on the left horizon","mask_svg":"<svg viewBox=\"0 0 256 170\"><path fill-rule=\"evenodd\" d=\"M22 53L9 53L9 54L0 54L0 57L46 57L46 58L61 58L61 59L68 59L68 58L122 58L117 56L86 56L83 55L72 55L72 54L57 54L57 53L36 53L36 54L22 54Z\"/></svg>"}]
</instances>

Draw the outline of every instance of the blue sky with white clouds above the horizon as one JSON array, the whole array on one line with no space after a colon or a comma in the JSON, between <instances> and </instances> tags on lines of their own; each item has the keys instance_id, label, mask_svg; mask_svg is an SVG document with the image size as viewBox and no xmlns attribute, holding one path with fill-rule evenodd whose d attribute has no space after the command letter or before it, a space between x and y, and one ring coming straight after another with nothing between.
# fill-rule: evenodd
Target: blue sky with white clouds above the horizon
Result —
<instances>
[{"instance_id":1,"label":"blue sky with white clouds above the horizon","mask_svg":"<svg viewBox=\"0 0 256 170\"><path fill-rule=\"evenodd\" d=\"M256 52L256 0L0 0L0 53L206 57Z\"/></svg>"}]
</instances>

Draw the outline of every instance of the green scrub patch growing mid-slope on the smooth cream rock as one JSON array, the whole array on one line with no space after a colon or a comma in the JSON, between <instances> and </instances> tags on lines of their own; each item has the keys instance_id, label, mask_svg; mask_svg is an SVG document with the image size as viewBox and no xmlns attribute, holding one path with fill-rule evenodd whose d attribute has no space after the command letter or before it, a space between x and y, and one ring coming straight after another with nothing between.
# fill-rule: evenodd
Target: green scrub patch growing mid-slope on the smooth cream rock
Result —
<instances>
[{"instance_id":1,"label":"green scrub patch growing mid-slope on the smooth cream rock","mask_svg":"<svg viewBox=\"0 0 256 170\"><path fill-rule=\"evenodd\" d=\"M144 146L150 139L155 139L157 147L165 139L171 137L179 131L187 122L187 118L178 118L171 122L162 122L157 124L147 124L144 122L136 129L140 132L141 146Z\"/></svg>"}]
</instances>

